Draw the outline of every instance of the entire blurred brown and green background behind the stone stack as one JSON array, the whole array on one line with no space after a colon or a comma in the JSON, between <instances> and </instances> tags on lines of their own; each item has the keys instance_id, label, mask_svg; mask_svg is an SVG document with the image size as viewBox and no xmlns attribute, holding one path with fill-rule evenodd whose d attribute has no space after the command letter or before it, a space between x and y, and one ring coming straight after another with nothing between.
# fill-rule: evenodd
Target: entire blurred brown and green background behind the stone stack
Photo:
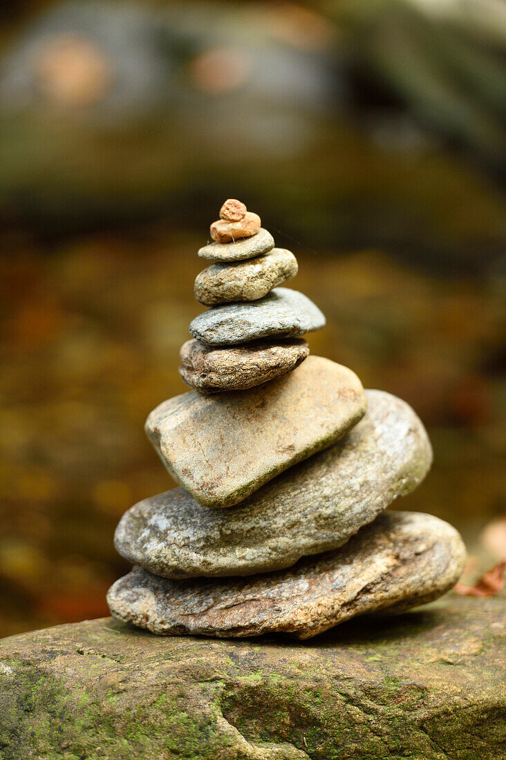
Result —
<instances>
[{"instance_id":1,"label":"entire blurred brown and green background behind the stone stack","mask_svg":"<svg viewBox=\"0 0 506 760\"><path fill-rule=\"evenodd\" d=\"M469 578L498 562L503 0L0 13L0 635L107 614L120 516L173 487L142 426L185 391L228 197L298 257L328 319L312 352L428 426L433 470L396 508L452 521Z\"/></svg>"}]
</instances>

